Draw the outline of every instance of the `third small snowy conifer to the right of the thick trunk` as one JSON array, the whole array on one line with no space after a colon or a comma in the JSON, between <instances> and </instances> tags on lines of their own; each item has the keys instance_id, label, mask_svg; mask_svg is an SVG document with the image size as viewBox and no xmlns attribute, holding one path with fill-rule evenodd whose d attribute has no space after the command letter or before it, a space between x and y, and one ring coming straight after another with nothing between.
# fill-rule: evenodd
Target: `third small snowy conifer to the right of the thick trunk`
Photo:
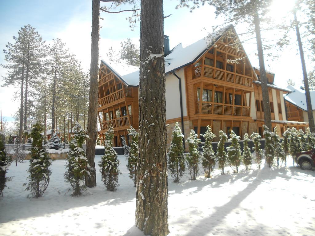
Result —
<instances>
[{"instance_id":1,"label":"third small snowy conifer to the right of the thick trunk","mask_svg":"<svg viewBox=\"0 0 315 236\"><path fill-rule=\"evenodd\" d=\"M212 142L215 138L215 134L212 132L211 126L207 126L207 130L204 134L200 134L205 139L203 145L202 154L202 167L204 171L204 177L211 178L211 173L215 168L215 152L212 148Z\"/></svg>"}]
</instances>

